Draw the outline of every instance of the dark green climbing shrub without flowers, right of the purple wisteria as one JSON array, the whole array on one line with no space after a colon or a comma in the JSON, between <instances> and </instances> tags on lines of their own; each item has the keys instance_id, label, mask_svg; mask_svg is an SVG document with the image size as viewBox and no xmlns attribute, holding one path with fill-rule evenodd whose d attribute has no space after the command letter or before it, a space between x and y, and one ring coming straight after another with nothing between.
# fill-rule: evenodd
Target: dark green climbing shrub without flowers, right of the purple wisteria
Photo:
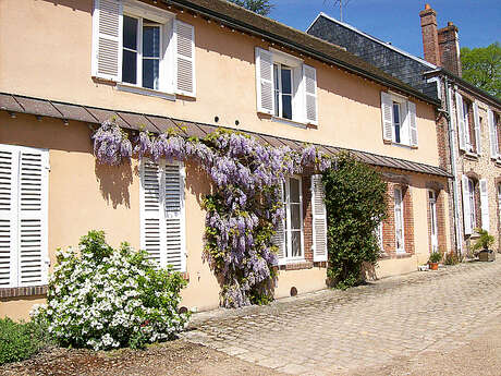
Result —
<instances>
[{"instance_id":1,"label":"dark green climbing shrub without flowers, right of the purple wisteria","mask_svg":"<svg viewBox=\"0 0 501 376\"><path fill-rule=\"evenodd\" d=\"M387 215L387 187L374 168L340 154L338 169L323 172L328 214L328 277L333 287L357 284L364 263L379 256L376 229Z\"/></svg>"}]
</instances>

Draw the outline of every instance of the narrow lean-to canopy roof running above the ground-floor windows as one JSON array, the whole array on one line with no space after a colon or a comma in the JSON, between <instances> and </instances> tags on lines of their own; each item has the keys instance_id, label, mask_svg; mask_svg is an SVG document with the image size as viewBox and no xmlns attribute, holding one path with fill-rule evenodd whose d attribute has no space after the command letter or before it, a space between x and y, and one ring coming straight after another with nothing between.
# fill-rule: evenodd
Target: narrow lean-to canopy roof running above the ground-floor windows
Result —
<instances>
[{"instance_id":1,"label":"narrow lean-to canopy roof running above the ground-floor windows","mask_svg":"<svg viewBox=\"0 0 501 376\"><path fill-rule=\"evenodd\" d=\"M154 114L74 105L44 98L14 95L9 93L0 93L0 110L8 111L12 116L15 116L15 112L20 112L34 114L36 117L49 117L61 119L64 122L68 122L70 120L76 120L96 124L99 124L107 119L115 117L118 124L124 129L138 130L140 124L146 125L146 129L150 132L162 133L169 129L178 128L181 132L185 133L185 135L197 137L204 137L206 134L213 132L216 129L220 128L211 124L204 124L169 117L158 117ZM245 133L255 136L261 143L270 144L272 146L286 145L292 149L301 149L304 147L304 143L297 140L277 137L268 134L247 131L245 131ZM372 153L362 150L347 149L332 145L316 144L316 146L319 147L327 155L331 156L340 151L349 151L359 160L372 166L452 178L450 173L436 166L376 155Z\"/></svg>"}]
</instances>

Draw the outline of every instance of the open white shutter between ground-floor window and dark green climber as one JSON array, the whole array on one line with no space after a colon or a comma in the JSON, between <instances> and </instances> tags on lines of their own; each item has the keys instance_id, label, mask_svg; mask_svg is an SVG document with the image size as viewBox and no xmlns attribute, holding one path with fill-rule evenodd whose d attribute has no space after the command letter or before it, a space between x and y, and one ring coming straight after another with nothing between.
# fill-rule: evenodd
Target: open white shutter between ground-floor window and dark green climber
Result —
<instances>
[{"instance_id":1,"label":"open white shutter between ground-floor window and dark green climber","mask_svg":"<svg viewBox=\"0 0 501 376\"><path fill-rule=\"evenodd\" d=\"M321 174L311 175L314 262L327 262L327 209Z\"/></svg>"}]
</instances>

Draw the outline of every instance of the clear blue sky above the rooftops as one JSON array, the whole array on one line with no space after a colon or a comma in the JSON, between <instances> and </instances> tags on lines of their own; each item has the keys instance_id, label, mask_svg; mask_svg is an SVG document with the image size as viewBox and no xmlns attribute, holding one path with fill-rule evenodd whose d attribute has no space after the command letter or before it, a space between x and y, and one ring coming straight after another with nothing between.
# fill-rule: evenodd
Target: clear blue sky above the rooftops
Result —
<instances>
[{"instance_id":1,"label":"clear blue sky above the rooftops","mask_svg":"<svg viewBox=\"0 0 501 376\"><path fill-rule=\"evenodd\" d=\"M276 4L270 17L305 31L319 12L339 19L334 0L271 0ZM501 43L501 0L428 1L437 11L438 27L448 21L460 28L461 47L485 47ZM391 41L413 54L423 57L419 11L420 0L350 0L343 21L379 39Z\"/></svg>"}]
</instances>

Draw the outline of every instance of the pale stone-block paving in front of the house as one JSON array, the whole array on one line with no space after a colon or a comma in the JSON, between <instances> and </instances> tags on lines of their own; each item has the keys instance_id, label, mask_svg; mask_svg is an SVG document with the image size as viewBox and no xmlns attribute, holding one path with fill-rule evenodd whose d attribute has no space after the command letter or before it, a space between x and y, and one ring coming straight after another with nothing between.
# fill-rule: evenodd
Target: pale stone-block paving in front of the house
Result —
<instances>
[{"instance_id":1,"label":"pale stone-block paving in front of the house","mask_svg":"<svg viewBox=\"0 0 501 376\"><path fill-rule=\"evenodd\" d=\"M183 337L295 375L332 375L451 350L501 316L501 262L194 315Z\"/></svg>"}]
</instances>

